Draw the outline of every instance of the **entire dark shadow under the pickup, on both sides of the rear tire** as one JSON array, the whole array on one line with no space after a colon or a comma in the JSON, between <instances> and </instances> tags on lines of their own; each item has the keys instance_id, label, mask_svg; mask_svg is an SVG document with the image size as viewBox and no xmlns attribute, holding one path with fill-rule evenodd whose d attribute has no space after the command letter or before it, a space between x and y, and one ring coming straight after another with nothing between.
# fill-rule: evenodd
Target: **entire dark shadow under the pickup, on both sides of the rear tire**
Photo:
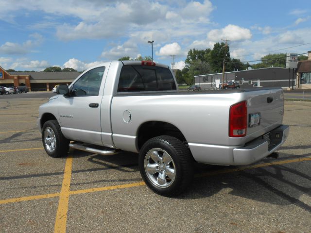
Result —
<instances>
[{"instance_id":1,"label":"entire dark shadow under the pickup, on both sides of the rear tire","mask_svg":"<svg viewBox=\"0 0 311 233\"><path fill-rule=\"evenodd\" d=\"M86 153L82 152L82 154ZM310 155L310 153L303 155L280 153L280 159L267 158L262 162L273 163L285 159L305 158ZM136 162L138 161L138 154L136 153L121 152L117 155L105 156L93 154L87 158L87 161L97 166L97 168L87 169L87 171L109 169L120 170L124 173L139 171L138 163ZM228 194L232 196L281 206L294 204L311 212L311 206L300 200L302 195L310 194L311 192L309 166L308 164L300 166L301 163L258 167L234 172L230 172L230 168L235 169L237 166L228 167L197 164L192 185L187 191L174 199L202 199L212 197L219 192L226 192L224 190L229 189L230 191ZM222 170L228 168L228 172L222 173ZM217 174L218 171L221 174ZM73 171L73 173L74 172L75 171ZM82 170L79 172L82 172ZM208 175L212 172L216 174ZM206 176L204 174L206 174ZM130 180L141 181L141 178L134 180L122 179L120 181ZM111 180L108 178L107 180L98 182L110 181L118 181L118 179Z\"/></svg>"}]
</instances>

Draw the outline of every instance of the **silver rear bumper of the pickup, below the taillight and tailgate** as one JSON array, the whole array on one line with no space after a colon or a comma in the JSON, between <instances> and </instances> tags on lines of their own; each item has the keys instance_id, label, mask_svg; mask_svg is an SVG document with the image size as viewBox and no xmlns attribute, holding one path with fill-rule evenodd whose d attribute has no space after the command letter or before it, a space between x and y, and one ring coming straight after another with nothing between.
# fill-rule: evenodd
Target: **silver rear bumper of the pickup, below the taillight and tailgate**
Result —
<instances>
[{"instance_id":1,"label":"silver rear bumper of the pickup, below the taillight and tailgate","mask_svg":"<svg viewBox=\"0 0 311 233\"><path fill-rule=\"evenodd\" d=\"M270 132L271 143L273 143L276 138L278 139L274 146L271 146L271 143L269 146L268 141L262 142L262 140L254 140L242 148L233 149L234 165L248 165L267 157L285 142L288 134L289 127L287 125L281 125Z\"/></svg>"}]
</instances>

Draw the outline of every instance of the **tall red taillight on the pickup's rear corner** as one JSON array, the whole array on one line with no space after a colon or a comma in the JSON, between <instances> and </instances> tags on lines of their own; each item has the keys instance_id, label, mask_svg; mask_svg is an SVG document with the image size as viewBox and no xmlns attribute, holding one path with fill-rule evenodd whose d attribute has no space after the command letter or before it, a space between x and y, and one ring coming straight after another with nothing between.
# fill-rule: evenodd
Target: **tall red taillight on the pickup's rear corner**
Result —
<instances>
[{"instance_id":1,"label":"tall red taillight on the pickup's rear corner","mask_svg":"<svg viewBox=\"0 0 311 233\"><path fill-rule=\"evenodd\" d=\"M247 129L247 104L246 101L230 106L229 112L229 137L244 137Z\"/></svg>"}]
</instances>

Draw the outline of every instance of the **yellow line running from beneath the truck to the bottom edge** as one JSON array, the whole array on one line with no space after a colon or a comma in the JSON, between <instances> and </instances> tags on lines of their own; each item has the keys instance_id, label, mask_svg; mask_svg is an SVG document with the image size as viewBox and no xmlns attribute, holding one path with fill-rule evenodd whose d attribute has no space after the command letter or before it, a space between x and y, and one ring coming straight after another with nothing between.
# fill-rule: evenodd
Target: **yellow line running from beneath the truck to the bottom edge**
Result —
<instances>
[{"instance_id":1,"label":"yellow line running from beneath the truck to the bottom edge","mask_svg":"<svg viewBox=\"0 0 311 233\"><path fill-rule=\"evenodd\" d=\"M66 159L62 190L59 196L54 233L66 233L67 212L70 192L72 156Z\"/></svg>"}]
</instances>

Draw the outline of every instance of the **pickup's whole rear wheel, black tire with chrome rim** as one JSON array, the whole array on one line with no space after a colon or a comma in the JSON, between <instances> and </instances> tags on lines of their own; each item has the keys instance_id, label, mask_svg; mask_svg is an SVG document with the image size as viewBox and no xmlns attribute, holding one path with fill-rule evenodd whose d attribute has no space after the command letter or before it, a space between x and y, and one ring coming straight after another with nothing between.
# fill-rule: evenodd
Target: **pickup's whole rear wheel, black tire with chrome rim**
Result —
<instances>
[{"instance_id":1,"label":"pickup's whole rear wheel, black tire with chrome rim","mask_svg":"<svg viewBox=\"0 0 311 233\"><path fill-rule=\"evenodd\" d=\"M149 139L142 146L138 164L147 186L163 196L176 196L193 178L190 150L175 137L162 135Z\"/></svg>"}]
</instances>

